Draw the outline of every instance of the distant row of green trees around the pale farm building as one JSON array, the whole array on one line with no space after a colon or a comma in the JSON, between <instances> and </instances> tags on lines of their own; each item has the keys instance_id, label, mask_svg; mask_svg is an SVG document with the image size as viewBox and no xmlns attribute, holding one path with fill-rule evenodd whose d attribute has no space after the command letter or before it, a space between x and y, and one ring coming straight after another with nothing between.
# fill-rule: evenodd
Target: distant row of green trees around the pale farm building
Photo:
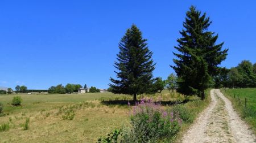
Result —
<instances>
[{"instance_id":1,"label":"distant row of green trees around the pale farm building","mask_svg":"<svg viewBox=\"0 0 256 143\"><path fill-rule=\"evenodd\" d=\"M51 86L48 89L48 93L50 94L65 94L65 93L73 93L78 92L79 88L82 88L82 85L80 84L67 84L63 86L62 84L58 84L56 86ZM84 88L87 88L86 84L84 85ZM100 92L100 89L97 89L96 87L92 86L89 89L90 92Z\"/></svg>"}]
</instances>

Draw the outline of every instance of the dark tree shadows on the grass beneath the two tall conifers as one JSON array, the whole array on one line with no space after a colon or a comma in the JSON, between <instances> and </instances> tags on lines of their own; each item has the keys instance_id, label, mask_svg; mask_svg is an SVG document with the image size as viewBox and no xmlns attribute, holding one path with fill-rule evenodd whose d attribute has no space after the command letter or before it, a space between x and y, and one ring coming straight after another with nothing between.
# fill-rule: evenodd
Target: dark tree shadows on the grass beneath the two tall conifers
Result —
<instances>
[{"instance_id":1,"label":"dark tree shadows on the grass beneath the two tall conifers","mask_svg":"<svg viewBox=\"0 0 256 143\"><path fill-rule=\"evenodd\" d=\"M185 99L184 101L161 101L160 104L163 106L166 105L175 105L175 104L184 104L187 103L189 101L189 99ZM103 105L128 105L128 102L130 103L130 105L135 105L135 102L133 100L108 100L108 101L101 101L101 103ZM140 100L138 100L138 102L141 102ZM155 102L155 103L159 103L159 102Z\"/></svg>"}]
</instances>

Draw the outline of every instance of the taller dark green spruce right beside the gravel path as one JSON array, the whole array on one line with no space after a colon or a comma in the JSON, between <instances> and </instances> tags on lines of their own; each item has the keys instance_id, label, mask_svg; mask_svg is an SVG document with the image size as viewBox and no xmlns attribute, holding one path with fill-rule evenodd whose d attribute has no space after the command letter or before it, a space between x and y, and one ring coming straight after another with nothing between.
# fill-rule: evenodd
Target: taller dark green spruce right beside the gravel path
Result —
<instances>
[{"instance_id":1,"label":"taller dark green spruce right beside the gravel path","mask_svg":"<svg viewBox=\"0 0 256 143\"><path fill-rule=\"evenodd\" d=\"M180 53L174 53L174 68L179 77L178 92L192 95L197 94L201 99L205 98L204 90L208 88L212 77L220 71L218 65L226 59L228 49L221 50L221 44L215 44L218 34L208 31L212 23L204 13L201 15L195 6L191 6L186 13L181 38L175 46Z\"/></svg>"}]
</instances>

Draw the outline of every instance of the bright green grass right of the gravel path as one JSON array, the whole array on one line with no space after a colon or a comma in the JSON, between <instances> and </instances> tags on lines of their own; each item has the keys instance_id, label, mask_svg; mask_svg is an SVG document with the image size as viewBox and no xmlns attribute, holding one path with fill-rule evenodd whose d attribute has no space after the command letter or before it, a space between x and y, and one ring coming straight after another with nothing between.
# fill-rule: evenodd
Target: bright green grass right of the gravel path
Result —
<instances>
[{"instance_id":1,"label":"bright green grass right of the gravel path","mask_svg":"<svg viewBox=\"0 0 256 143\"><path fill-rule=\"evenodd\" d=\"M229 98L234 109L256 133L256 88L221 89L221 92Z\"/></svg>"}]
</instances>

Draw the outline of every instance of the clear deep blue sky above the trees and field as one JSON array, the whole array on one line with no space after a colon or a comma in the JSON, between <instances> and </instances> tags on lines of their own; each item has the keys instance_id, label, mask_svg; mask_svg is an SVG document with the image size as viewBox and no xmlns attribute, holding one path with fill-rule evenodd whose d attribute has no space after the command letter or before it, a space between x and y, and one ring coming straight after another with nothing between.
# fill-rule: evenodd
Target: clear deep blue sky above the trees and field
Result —
<instances>
[{"instance_id":1,"label":"clear deep blue sky above the trees and field","mask_svg":"<svg viewBox=\"0 0 256 143\"><path fill-rule=\"evenodd\" d=\"M118 42L131 24L148 39L154 76L174 72L174 46L195 5L229 48L221 66L256 62L256 1L0 1L0 86L57 84L108 88Z\"/></svg>"}]
</instances>

